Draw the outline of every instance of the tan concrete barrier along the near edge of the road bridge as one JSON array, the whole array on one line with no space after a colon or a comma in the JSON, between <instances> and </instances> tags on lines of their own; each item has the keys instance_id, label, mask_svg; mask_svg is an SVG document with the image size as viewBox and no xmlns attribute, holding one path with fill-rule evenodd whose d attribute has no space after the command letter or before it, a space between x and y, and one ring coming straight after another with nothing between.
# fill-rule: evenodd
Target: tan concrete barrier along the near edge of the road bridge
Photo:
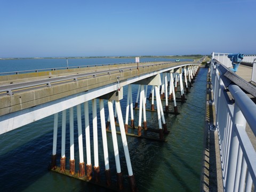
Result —
<instances>
[{"instance_id":1,"label":"tan concrete barrier along the near edge of the road bridge","mask_svg":"<svg viewBox=\"0 0 256 192\"><path fill-rule=\"evenodd\" d=\"M161 71L166 68L188 65L191 62L167 63L151 66L140 67L137 69L127 69L123 72L117 70L115 73L99 75L91 78L79 79L77 82L69 82L65 84L53 85L51 87L43 87L41 89L15 93L13 95L5 95L1 97L0 116L10 114L15 111L41 105L42 103L58 100L69 95L74 95L80 92L88 91L97 87L108 84L117 83L117 76L120 81L126 79L140 77L143 74L150 74L155 71ZM106 68L106 67L105 67ZM62 72L66 72L65 70ZM59 73L59 72L58 72ZM33 75L31 75L33 76ZM138 80L141 80L138 78Z\"/></svg>"}]
</instances>

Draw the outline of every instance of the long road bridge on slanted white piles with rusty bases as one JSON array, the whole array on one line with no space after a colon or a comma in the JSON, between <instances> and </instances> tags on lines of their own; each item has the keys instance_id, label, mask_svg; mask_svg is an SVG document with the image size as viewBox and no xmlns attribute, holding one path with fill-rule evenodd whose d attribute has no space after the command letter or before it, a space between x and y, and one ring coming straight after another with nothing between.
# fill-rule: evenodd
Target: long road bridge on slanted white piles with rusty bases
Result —
<instances>
[{"instance_id":1,"label":"long road bridge on slanted white piles with rusty bases","mask_svg":"<svg viewBox=\"0 0 256 192\"><path fill-rule=\"evenodd\" d=\"M0 76L0 134L17 129L23 125L38 121L54 114L53 125L53 150L51 170L62 174L83 179L101 185L99 179L98 157L98 119L97 103L103 141L103 151L106 174L106 187L111 187L108 143L106 131L111 131L117 174L117 189L123 189L123 177L118 154L118 142L116 126L119 126L122 136L122 147L125 151L127 170L132 191L136 190L135 177L129 156L126 134L134 137L143 137L164 141L164 135L169 133L165 123L164 113L179 114L177 102L185 102L185 92L193 83L200 63L196 62L146 62L124 63L119 65L79 66L65 69L44 69L35 71L17 71L5 73ZM139 122L135 126L133 121L132 84L139 84L135 108L139 105ZM158 117L158 129L147 127L146 98L148 85L151 85L151 111L156 111ZM175 91L180 86L179 96ZM127 95L124 95L123 87L127 86ZM161 87L161 89L160 89ZM185 91L186 89L186 91ZM177 93L176 93L177 94ZM123 119L121 103L123 97L127 97L125 120ZM138 99L140 100L138 101ZM107 100L108 119L105 119L104 100ZM163 110L162 100L165 101ZM92 101L92 124L93 124L93 156L91 158L91 138L89 126L89 105ZM156 109L154 102L156 101ZM174 108L169 111L169 104L173 102ZM85 135L86 135L86 165L84 162L83 139L82 139L82 110L84 106ZM115 105L115 110L113 108ZM75 172L74 159L74 107L76 107L78 143L79 143L79 170ZM69 110L69 117L67 117ZM62 139L60 167L57 167L57 130L58 114L62 113ZM129 115L131 125L129 125ZM143 117L143 126L142 126ZM70 128L70 170L66 170L66 119L69 118ZM116 123L118 119L118 124ZM106 123L107 122L107 123ZM106 124L105 124L106 123ZM109 126L110 125L110 126ZM111 129L109 129L111 127ZM137 134L129 133L129 129L137 129ZM159 133L158 138L148 137L142 134L142 130ZM92 168L93 164L93 168ZM92 169L93 173L92 174ZM86 171L85 171L86 170ZM86 172L86 174L85 174ZM92 178L94 175L94 178Z\"/></svg>"}]
</instances>

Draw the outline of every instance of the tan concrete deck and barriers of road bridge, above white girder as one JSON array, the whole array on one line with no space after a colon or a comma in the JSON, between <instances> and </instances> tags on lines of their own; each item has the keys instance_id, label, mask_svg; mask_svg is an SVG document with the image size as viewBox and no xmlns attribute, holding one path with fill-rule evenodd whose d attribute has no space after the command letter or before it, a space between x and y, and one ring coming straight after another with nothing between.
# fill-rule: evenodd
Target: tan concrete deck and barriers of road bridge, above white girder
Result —
<instances>
[{"instance_id":1,"label":"tan concrete deck and barriers of road bridge, above white girder","mask_svg":"<svg viewBox=\"0 0 256 192\"><path fill-rule=\"evenodd\" d=\"M2 103L0 116L100 86L115 84L117 81L135 77L140 78L145 74L154 76L156 75L155 71L170 70L182 65L191 65L191 63L194 62L139 63L139 69L137 69L137 63L131 63L129 65L96 66L0 76L0 82L2 82L0 86ZM12 95L14 91L16 91L16 94ZM12 97L7 95L6 92L9 95L11 94Z\"/></svg>"}]
</instances>

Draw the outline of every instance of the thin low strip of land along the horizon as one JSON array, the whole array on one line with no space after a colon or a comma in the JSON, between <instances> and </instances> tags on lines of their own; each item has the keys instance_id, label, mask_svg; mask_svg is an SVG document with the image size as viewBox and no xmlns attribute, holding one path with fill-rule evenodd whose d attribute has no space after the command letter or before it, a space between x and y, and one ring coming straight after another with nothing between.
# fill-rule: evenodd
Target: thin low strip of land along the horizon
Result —
<instances>
[{"instance_id":1,"label":"thin low strip of land along the horizon","mask_svg":"<svg viewBox=\"0 0 256 192\"><path fill-rule=\"evenodd\" d=\"M97 59L97 58L110 58L110 59L129 59L129 58L170 58L170 59L198 59L203 55L143 55L143 56L95 56L95 57L31 57L31 58L0 58L0 60L19 60L19 59Z\"/></svg>"}]
</instances>

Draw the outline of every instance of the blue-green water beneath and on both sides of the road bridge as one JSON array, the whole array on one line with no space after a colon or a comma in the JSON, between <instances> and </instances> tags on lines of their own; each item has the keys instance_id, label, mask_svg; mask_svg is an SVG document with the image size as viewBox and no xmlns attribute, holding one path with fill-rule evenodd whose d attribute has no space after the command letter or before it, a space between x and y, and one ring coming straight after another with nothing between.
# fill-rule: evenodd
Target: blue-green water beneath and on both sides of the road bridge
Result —
<instances>
[{"instance_id":1,"label":"blue-green water beneath and on both sides of the road bridge","mask_svg":"<svg viewBox=\"0 0 256 192\"><path fill-rule=\"evenodd\" d=\"M2 61L14 60L0 60ZM20 61L20 63L18 62ZM24 66L26 60L15 60L15 65ZM37 60L33 60L33 66L27 69L35 69ZM39 60L38 60L39 61ZM49 61L51 61L49 63ZM54 60L54 62L57 60ZM105 63L109 63L106 60ZM121 59L117 62L126 62ZM65 67L65 60L63 66ZM78 60L77 60L78 62ZM94 61L93 65L100 61ZM112 61L111 61L112 62ZM52 60L44 60L44 67L52 66ZM71 62L69 62L71 63ZM55 64L54 64L55 65ZM74 63L77 66L77 63ZM82 65L84 65L82 63ZM87 64L85 64L87 65ZM1 69L3 66L1 66ZM21 69L18 69L21 70ZM23 68L22 68L23 70ZM24 69L25 70L25 69ZM13 70L12 70L13 71ZM180 115L165 115L169 135L166 135L166 142L157 142L147 139L127 137L130 151L133 173L139 191L198 191L202 170L203 153L203 131L205 119L205 91L206 91L207 70L202 68L196 78L190 93L186 95L185 103L177 103ZM137 94L137 85L132 86L133 101ZM148 87L148 94L151 87ZM126 89L124 89L124 95ZM179 95L177 96L179 97ZM148 101L147 101L148 102ZM105 102L106 105L106 102ZM173 103L171 104L171 106ZM121 102L123 116L125 114L126 97ZM89 102L91 108L91 102ZM148 102L147 107L150 107ZM173 110L173 107L170 108ZM107 107L105 108L107 111ZM135 125L138 125L138 110L134 110ZM91 113L89 116L91 117ZM67 113L68 116L68 113ZM75 127L76 127L76 119ZM82 118L84 122L84 118ZM92 140L92 121L91 145ZM148 127L158 126L156 113L147 112ZM83 124L84 126L84 124ZM76 168L78 167L78 141L77 128L75 128L75 158ZM100 121L98 118L99 135L99 162L101 180L104 182L103 149L101 140ZM109 164L113 183L115 182L115 158L111 134L107 133L109 145ZM156 135L158 137L158 135ZM20 127L19 129L0 135L0 186L1 191L106 191L90 183L69 178L47 169L51 161L53 138L53 116L46 117L40 121ZM118 147L124 185L128 188L127 169L122 147L121 136L117 135ZM61 152L61 113L59 115L58 128L58 164ZM83 143L85 145L85 133L83 129ZM84 148L84 159L86 160L86 149ZM91 147L93 163L93 147ZM69 121L67 121L66 139L67 169L69 159Z\"/></svg>"}]
</instances>

